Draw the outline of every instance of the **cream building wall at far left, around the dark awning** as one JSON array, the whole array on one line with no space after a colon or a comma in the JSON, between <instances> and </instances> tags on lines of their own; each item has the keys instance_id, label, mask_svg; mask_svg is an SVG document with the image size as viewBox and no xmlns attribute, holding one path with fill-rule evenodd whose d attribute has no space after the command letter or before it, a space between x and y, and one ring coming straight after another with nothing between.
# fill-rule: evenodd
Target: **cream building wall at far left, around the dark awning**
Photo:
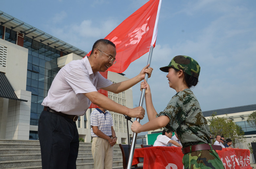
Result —
<instances>
[{"instance_id":1,"label":"cream building wall at far left, around the dark awning","mask_svg":"<svg viewBox=\"0 0 256 169\"><path fill-rule=\"evenodd\" d=\"M29 140L31 92L26 91L28 49L0 39L7 48L6 67L0 66L19 99L28 102L1 98L0 139Z\"/></svg>"}]
</instances>

